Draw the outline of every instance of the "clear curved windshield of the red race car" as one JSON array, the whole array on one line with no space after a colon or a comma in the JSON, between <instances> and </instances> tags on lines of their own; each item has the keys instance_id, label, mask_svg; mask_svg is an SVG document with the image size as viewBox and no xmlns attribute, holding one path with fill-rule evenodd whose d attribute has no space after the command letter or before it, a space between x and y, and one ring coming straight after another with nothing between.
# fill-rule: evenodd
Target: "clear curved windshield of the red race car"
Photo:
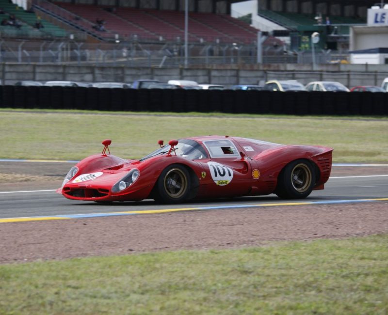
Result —
<instances>
[{"instance_id":1,"label":"clear curved windshield of the red race car","mask_svg":"<svg viewBox=\"0 0 388 315\"><path fill-rule=\"evenodd\" d=\"M146 155L145 157L142 157L140 160L143 161L150 157L166 154L169 150L170 145L167 144L162 148L159 148L158 150L155 150L154 152ZM174 146L174 151L177 156L186 157L187 159L191 160L208 157L208 154L206 153L206 150L202 147L202 145L190 139L179 140L178 144ZM174 154L174 151L171 151L171 154Z\"/></svg>"}]
</instances>

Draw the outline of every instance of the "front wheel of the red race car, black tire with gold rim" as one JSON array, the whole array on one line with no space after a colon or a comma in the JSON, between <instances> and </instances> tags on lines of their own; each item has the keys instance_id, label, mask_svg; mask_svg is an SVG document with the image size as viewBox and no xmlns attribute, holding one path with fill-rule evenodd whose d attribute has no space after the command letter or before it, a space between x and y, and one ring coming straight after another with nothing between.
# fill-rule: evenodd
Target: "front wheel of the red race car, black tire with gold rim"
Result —
<instances>
[{"instance_id":1,"label":"front wheel of the red race car, black tire with gold rim","mask_svg":"<svg viewBox=\"0 0 388 315\"><path fill-rule=\"evenodd\" d=\"M185 201L191 190L189 171L180 164L171 164L160 174L154 199L165 204Z\"/></svg>"}]
</instances>

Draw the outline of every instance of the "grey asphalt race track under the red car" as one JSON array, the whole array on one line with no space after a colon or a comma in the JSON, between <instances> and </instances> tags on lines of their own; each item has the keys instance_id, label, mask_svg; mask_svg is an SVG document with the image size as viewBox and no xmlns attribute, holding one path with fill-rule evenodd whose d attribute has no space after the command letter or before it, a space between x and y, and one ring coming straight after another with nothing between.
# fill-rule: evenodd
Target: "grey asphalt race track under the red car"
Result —
<instances>
[{"instance_id":1,"label":"grey asphalt race track under the red car","mask_svg":"<svg viewBox=\"0 0 388 315\"><path fill-rule=\"evenodd\" d=\"M385 169L385 168L384 168ZM381 170L383 171L383 170ZM54 189L54 187L53 187ZM65 199L51 189L36 191L0 191L0 219L35 216L77 215L114 213L122 211L145 211L157 209L245 207L260 204L287 204L298 202L341 203L361 199L388 198L388 174L332 175L324 190L316 190L304 200L282 200L276 195L214 199L180 205L160 205L153 200L122 202L109 205L94 202L78 202Z\"/></svg>"}]
</instances>

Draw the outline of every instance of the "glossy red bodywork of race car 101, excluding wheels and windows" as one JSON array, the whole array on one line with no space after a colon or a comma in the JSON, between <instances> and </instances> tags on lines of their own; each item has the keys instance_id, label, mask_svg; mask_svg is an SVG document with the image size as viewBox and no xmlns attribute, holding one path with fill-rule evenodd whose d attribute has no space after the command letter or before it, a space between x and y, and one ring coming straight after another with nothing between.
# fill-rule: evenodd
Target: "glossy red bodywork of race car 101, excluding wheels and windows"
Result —
<instances>
[{"instance_id":1,"label":"glossy red bodywork of race car 101, excluding wheels and windows","mask_svg":"<svg viewBox=\"0 0 388 315\"><path fill-rule=\"evenodd\" d=\"M195 187L195 194L191 198L195 199L271 194L275 191L281 170L296 159L307 159L314 165L316 173L314 189L323 189L323 184L329 179L331 172L333 149L328 147L281 145L228 136L185 139L198 142L206 150L208 157L191 160L171 153L141 161L125 160L106 154L93 155L76 165L78 172L62 188L57 189L57 192L69 199L86 201L148 199L152 198L152 190L163 169L171 164L181 164L188 169ZM240 153L239 156L211 157L209 148L204 142L225 139L234 144ZM175 142L170 141L171 143ZM224 182L222 178L221 180L215 178L212 173L215 168L211 164L222 164L226 170L232 170L232 179ZM112 192L113 185L134 168L139 170L140 175L133 185L123 191ZM90 180L74 182L81 174L98 176Z\"/></svg>"}]
</instances>

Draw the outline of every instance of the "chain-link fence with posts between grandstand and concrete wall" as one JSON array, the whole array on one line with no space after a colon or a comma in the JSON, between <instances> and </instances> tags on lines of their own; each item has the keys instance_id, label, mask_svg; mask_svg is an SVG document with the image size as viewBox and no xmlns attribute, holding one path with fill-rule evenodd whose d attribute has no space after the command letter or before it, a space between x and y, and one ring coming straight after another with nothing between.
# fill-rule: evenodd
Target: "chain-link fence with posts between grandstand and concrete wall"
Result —
<instances>
[{"instance_id":1,"label":"chain-link fence with posts between grandstand and concrete wall","mask_svg":"<svg viewBox=\"0 0 388 315\"><path fill-rule=\"evenodd\" d=\"M188 65L256 64L256 44L204 44L190 45ZM332 55L327 51L315 54L317 64L330 63ZM182 43L140 44L119 42L116 45L86 44L74 40L31 43L0 41L1 63L75 63L98 65L126 65L137 67L183 66L185 64ZM311 52L289 52L283 47L264 46L263 63L312 63Z\"/></svg>"}]
</instances>

